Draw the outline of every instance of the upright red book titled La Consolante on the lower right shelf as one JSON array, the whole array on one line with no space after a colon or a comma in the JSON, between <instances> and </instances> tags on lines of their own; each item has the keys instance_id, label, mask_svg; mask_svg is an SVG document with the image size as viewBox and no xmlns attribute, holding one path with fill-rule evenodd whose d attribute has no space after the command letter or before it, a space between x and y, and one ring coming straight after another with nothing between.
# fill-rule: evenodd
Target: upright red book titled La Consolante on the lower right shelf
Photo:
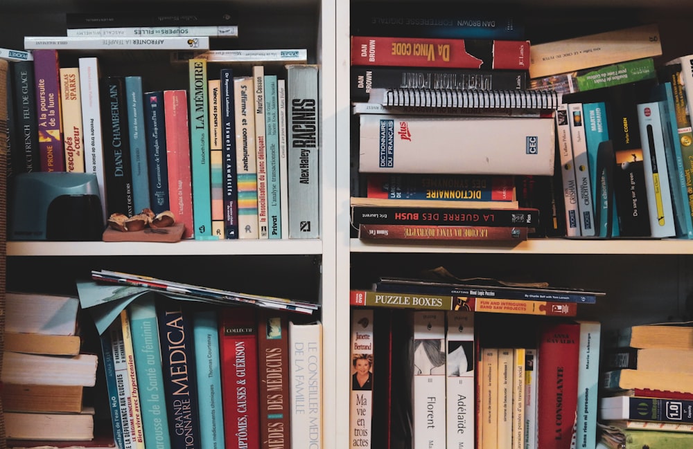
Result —
<instances>
[{"instance_id":1,"label":"upright red book titled La Consolante on the lower right shelf","mask_svg":"<svg viewBox=\"0 0 693 449\"><path fill-rule=\"evenodd\" d=\"M580 324L552 322L539 331L538 447L570 449L577 412Z\"/></svg>"}]
</instances>

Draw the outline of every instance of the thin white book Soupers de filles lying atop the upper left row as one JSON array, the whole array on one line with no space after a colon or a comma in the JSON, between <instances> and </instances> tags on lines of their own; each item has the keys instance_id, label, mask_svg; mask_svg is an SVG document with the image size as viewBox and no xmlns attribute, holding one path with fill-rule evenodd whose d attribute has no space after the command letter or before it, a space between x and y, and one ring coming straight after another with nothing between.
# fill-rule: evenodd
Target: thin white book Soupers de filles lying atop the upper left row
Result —
<instances>
[{"instance_id":1,"label":"thin white book Soupers de filles lying atop the upper left row","mask_svg":"<svg viewBox=\"0 0 693 449\"><path fill-rule=\"evenodd\" d=\"M108 28L68 28L67 37L238 37L237 25L219 26L123 26Z\"/></svg>"}]
</instances>

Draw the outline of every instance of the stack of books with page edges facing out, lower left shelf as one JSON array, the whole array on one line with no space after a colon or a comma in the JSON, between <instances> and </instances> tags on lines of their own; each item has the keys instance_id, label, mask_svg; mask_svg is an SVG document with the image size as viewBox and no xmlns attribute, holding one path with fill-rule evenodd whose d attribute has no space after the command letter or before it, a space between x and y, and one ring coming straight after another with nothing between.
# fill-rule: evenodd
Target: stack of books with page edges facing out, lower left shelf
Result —
<instances>
[{"instance_id":1,"label":"stack of books with page edges facing out, lower left shelf","mask_svg":"<svg viewBox=\"0 0 693 449\"><path fill-rule=\"evenodd\" d=\"M96 383L98 358L80 352L78 310L74 296L6 294L0 395L14 445L94 439L84 393Z\"/></svg>"}]
</instances>

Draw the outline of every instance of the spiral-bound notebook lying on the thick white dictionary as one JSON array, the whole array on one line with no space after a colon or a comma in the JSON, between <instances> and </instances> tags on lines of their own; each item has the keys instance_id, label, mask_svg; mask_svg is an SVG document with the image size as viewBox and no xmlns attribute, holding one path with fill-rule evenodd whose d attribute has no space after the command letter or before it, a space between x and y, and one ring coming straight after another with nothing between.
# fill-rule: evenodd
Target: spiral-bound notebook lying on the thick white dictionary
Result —
<instances>
[{"instance_id":1,"label":"spiral-bound notebook lying on the thick white dictionary","mask_svg":"<svg viewBox=\"0 0 693 449\"><path fill-rule=\"evenodd\" d=\"M556 109L556 91L371 89L369 102L383 106Z\"/></svg>"}]
</instances>

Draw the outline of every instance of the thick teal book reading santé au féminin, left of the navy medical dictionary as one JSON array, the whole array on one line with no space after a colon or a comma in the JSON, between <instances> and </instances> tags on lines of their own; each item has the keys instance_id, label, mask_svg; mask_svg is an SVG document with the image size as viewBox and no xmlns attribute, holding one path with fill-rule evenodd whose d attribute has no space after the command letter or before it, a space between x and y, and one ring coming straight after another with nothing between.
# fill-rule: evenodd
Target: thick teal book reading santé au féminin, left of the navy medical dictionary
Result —
<instances>
[{"instance_id":1,"label":"thick teal book reading sant\u00e9 au f\u00e9minin, left of the navy medical dictionary","mask_svg":"<svg viewBox=\"0 0 693 449\"><path fill-rule=\"evenodd\" d=\"M157 309L152 295L143 295L128 306L134 365L144 441L149 449L170 449L168 417L164 398Z\"/></svg>"}]
</instances>

